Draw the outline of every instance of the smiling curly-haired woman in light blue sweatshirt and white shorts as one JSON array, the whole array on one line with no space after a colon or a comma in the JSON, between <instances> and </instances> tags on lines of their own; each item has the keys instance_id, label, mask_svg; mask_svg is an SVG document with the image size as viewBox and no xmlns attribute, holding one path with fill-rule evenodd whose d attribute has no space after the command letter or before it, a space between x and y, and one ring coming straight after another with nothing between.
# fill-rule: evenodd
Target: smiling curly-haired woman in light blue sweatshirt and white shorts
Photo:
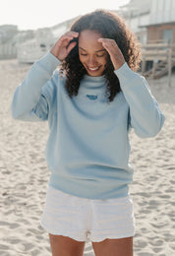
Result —
<instances>
[{"instance_id":1,"label":"smiling curly-haired woman in light blue sweatshirt and white shorts","mask_svg":"<svg viewBox=\"0 0 175 256\"><path fill-rule=\"evenodd\" d=\"M15 92L14 118L49 123L41 224L53 256L83 255L87 237L97 256L133 255L128 133L153 137L164 122L140 62L122 18L99 10L76 21Z\"/></svg>"}]
</instances>

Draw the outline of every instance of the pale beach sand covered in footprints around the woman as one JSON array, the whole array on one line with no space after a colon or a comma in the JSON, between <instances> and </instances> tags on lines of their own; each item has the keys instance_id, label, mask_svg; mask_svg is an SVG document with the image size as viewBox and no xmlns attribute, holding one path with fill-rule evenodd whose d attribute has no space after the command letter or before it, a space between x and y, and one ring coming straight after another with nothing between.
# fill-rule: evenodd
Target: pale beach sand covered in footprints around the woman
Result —
<instances>
[{"instance_id":1,"label":"pale beach sand covered in footprints around the woman","mask_svg":"<svg viewBox=\"0 0 175 256\"><path fill-rule=\"evenodd\" d=\"M49 256L39 224L49 172L44 160L47 123L13 120L10 104L29 65L0 61L0 255ZM175 255L175 74L148 81L166 121L151 139L131 133L135 167L131 195L136 216L135 256ZM85 255L92 256L90 243ZM108 255L106 255L108 256Z\"/></svg>"}]
</instances>

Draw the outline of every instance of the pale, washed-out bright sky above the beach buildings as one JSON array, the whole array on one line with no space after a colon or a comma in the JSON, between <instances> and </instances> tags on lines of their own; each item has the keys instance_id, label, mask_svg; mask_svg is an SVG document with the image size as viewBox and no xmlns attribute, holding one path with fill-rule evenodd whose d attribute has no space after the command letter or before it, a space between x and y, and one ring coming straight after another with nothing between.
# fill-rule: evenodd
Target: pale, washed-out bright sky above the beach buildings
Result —
<instances>
[{"instance_id":1,"label":"pale, washed-out bright sky above the beach buildings","mask_svg":"<svg viewBox=\"0 0 175 256\"><path fill-rule=\"evenodd\" d=\"M4 0L0 26L17 25L20 31L52 27L95 9L117 10L130 0Z\"/></svg>"}]
</instances>

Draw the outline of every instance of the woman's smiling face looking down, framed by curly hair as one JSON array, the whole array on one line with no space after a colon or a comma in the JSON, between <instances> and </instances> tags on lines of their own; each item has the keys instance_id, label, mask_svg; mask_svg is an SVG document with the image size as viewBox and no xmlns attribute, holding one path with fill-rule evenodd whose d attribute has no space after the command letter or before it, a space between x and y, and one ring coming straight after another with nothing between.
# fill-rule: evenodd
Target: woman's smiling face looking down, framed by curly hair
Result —
<instances>
[{"instance_id":1,"label":"woman's smiling face looking down, framed by curly hair","mask_svg":"<svg viewBox=\"0 0 175 256\"><path fill-rule=\"evenodd\" d=\"M92 77L102 76L107 62L107 52L97 39L102 37L98 32L83 31L79 36L79 58Z\"/></svg>"}]
</instances>

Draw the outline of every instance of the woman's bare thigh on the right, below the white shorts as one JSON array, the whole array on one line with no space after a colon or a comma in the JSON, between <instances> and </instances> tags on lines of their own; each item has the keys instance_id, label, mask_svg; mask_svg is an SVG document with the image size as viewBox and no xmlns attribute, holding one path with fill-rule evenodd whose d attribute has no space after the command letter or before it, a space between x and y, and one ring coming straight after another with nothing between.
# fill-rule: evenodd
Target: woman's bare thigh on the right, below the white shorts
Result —
<instances>
[{"instance_id":1,"label":"woman's bare thigh on the right, below the white shorts","mask_svg":"<svg viewBox=\"0 0 175 256\"><path fill-rule=\"evenodd\" d=\"M95 256L133 256L133 237L92 242Z\"/></svg>"}]
</instances>

